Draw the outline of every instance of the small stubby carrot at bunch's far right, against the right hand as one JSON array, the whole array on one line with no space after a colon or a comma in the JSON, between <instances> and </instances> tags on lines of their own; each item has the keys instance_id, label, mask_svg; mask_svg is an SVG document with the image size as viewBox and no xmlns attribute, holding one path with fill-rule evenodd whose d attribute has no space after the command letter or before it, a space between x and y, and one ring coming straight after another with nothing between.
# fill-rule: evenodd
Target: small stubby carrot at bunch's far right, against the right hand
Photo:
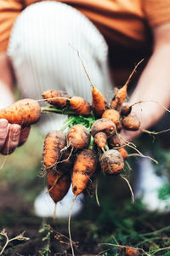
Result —
<instances>
[{"instance_id":1,"label":"small stubby carrot at bunch's far right, against the right hand","mask_svg":"<svg viewBox=\"0 0 170 256\"><path fill-rule=\"evenodd\" d=\"M122 119L122 126L128 131L138 131L140 122L134 116L127 115L124 119Z\"/></svg>"}]
</instances>

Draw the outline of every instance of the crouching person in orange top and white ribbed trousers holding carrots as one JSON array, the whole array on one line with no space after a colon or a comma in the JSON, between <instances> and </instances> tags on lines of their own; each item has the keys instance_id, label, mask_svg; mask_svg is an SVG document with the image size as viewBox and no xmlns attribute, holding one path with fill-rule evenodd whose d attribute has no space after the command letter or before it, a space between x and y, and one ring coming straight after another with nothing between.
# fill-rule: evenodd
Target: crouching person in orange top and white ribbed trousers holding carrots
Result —
<instances>
[{"instance_id":1,"label":"crouching person in orange top and white ribbed trousers holding carrots","mask_svg":"<svg viewBox=\"0 0 170 256\"><path fill-rule=\"evenodd\" d=\"M131 103L144 101L133 107L142 129L161 118L161 105L169 106L167 0L0 0L0 24L2 108L14 101L14 79L22 97L39 99L43 90L57 88L89 100L89 82L75 49L106 97L111 96L114 80L125 81L144 57L144 70L129 98ZM42 132L59 129L64 119L42 118ZM0 152L12 153L26 142L29 130L0 119ZM122 131L122 136L132 141L140 132Z\"/></svg>"}]
</instances>

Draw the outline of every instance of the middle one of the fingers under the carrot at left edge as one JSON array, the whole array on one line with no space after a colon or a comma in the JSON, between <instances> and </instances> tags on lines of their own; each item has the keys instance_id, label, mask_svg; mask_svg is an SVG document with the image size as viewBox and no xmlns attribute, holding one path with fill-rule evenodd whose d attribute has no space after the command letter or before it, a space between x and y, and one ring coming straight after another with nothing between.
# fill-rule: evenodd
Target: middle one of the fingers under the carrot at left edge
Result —
<instances>
[{"instance_id":1,"label":"middle one of the fingers under the carrot at left edge","mask_svg":"<svg viewBox=\"0 0 170 256\"><path fill-rule=\"evenodd\" d=\"M20 131L20 125L8 125L8 136L6 137L3 149L1 150L2 154L11 154L14 152L14 149L18 147Z\"/></svg>"}]
</instances>

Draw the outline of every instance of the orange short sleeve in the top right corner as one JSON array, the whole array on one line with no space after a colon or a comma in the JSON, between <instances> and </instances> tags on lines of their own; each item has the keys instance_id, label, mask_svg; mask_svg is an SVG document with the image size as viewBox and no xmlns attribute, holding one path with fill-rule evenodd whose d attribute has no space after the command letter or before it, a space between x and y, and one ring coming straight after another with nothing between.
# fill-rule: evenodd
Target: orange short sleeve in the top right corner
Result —
<instances>
[{"instance_id":1,"label":"orange short sleeve in the top right corner","mask_svg":"<svg viewBox=\"0 0 170 256\"><path fill-rule=\"evenodd\" d=\"M146 20L150 26L159 26L170 21L169 0L142 0Z\"/></svg>"}]
</instances>

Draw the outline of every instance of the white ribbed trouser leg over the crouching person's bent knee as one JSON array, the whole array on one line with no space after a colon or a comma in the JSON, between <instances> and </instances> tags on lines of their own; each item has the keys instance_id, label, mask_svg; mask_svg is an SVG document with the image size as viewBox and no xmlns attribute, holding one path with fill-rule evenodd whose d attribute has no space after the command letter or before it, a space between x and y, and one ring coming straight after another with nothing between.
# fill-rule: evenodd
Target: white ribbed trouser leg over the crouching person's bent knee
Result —
<instances>
[{"instance_id":1,"label":"white ribbed trouser leg over the crouching person's bent knee","mask_svg":"<svg viewBox=\"0 0 170 256\"><path fill-rule=\"evenodd\" d=\"M65 3L34 3L14 23L8 55L22 97L41 99L44 90L66 90L91 102L91 87L77 49L93 84L111 98L108 48L97 28ZM44 115L42 131L59 129L66 117Z\"/></svg>"}]
</instances>

